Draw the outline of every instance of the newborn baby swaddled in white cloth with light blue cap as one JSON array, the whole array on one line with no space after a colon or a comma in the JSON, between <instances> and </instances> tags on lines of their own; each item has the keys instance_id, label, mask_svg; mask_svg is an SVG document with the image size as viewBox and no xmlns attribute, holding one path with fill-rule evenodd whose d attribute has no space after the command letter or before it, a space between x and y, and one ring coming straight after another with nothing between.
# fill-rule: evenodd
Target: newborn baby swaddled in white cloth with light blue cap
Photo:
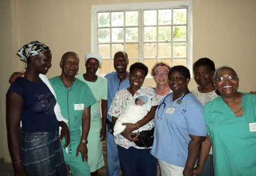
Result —
<instances>
[{"instance_id":1,"label":"newborn baby swaddled in white cloth with light blue cap","mask_svg":"<svg viewBox=\"0 0 256 176\"><path fill-rule=\"evenodd\" d=\"M135 101L130 101L126 106L125 112L116 120L113 135L120 134L125 130L126 126L122 125L122 123L136 123L138 120L143 119L151 107L151 100L148 100L147 96L138 96Z\"/></svg>"}]
</instances>

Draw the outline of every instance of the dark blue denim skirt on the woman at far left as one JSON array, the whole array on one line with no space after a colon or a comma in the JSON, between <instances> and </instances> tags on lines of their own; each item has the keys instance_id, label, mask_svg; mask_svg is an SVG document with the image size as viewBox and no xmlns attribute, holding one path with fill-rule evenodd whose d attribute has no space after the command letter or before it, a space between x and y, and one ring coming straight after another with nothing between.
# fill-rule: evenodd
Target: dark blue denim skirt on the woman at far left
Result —
<instances>
[{"instance_id":1,"label":"dark blue denim skirt on the woman at far left","mask_svg":"<svg viewBox=\"0 0 256 176\"><path fill-rule=\"evenodd\" d=\"M29 175L67 175L59 131L30 133L20 130L20 148Z\"/></svg>"}]
</instances>

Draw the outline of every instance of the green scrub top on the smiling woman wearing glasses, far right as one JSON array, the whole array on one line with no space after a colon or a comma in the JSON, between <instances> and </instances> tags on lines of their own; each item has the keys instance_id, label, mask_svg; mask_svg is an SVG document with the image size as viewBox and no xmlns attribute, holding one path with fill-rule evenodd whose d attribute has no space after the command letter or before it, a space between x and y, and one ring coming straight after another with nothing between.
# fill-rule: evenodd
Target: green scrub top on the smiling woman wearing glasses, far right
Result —
<instances>
[{"instance_id":1,"label":"green scrub top on the smiling woman wearing glasses, far right","mask_svg":"<svg viewBox=\"0 0 256 176\"><path fill-rule=\"evenodd\" d=\"M243 94L241 117L236 117L221 97L204 106L216 176L256 173L256 132L249 129L249 123L256 122L256 95Z\"/></svg>"}]
</instances>

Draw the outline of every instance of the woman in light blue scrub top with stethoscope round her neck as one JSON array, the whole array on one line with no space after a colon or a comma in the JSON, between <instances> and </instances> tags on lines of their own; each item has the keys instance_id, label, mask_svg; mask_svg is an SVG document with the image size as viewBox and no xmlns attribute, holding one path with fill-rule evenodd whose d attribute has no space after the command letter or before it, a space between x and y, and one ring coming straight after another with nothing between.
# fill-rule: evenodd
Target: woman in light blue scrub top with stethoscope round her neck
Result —
<instances>
[{"instance_id":1,"label":"woman in light blue scrub top with stethoscope round her neck","mask_svg":"<svg viewBox=\"0 0 256 176\"><path fill-rule=\"evenodd\" d=\"M187 87L189 69L172 67L168 78L173 93L163 98L155 113L151 154L157 157L162 175L193 175L206 136L203 108Z\"/></svg>"}]
</instances>

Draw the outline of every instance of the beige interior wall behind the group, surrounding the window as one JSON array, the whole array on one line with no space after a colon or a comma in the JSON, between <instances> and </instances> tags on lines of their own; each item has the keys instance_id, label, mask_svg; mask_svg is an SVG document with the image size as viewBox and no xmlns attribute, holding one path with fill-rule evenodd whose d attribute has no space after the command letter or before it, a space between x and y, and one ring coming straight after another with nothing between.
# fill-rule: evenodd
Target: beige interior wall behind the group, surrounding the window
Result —
<instances>
[{"instance_id":1,"label":"beige interior wall behind the group, surrounding the window","mask_svg":"<svg viewBox=\"0 0 256 176\"><path fill-rule=\"evenodd\" d=\"M160 0L163 1L163 0ZM59 61L63 53L74 51L80 56L83 73L84 55L91 50L91 5L106 3L154 2L148 0L1 0L1 124L0 157L10 161L6 142L5 94L9 75L24 68L16 51L24 43L38 40L52 50L52 68L47 76L60 75ZM230 65L240 77L241 91L255 90L256 76L256 1L194 0L193 61L201 57L214 60L216 67ZM146 79L144 86L154 85ZM193 79L190 89L196 87Z\"/></svg>"}]
</instances>

